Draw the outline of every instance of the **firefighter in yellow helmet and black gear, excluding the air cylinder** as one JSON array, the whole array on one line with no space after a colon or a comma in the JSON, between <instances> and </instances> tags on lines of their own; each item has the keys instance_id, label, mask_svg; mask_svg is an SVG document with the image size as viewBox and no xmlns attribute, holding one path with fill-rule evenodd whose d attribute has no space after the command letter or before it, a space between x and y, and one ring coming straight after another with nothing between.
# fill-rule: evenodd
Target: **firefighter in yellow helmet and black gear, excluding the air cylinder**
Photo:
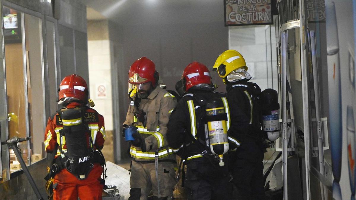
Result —
<instances>
[{"instance_id":1,"label":"firefighter in yellow helmet and black gear, excluding the air cylinder","mask_svg":"<svg viewBox=\"0 0 356 200\"><path fill-rule=\"evenodd\" d=\"M236 188L234 196L261 200L265 199L262 163L265 147L258 106L261 89L248 82L252 77L247 69L244 57L235 50L221 53L213 67L226 84L230 107L229 168Z\"/></svg>"}]
</instances>

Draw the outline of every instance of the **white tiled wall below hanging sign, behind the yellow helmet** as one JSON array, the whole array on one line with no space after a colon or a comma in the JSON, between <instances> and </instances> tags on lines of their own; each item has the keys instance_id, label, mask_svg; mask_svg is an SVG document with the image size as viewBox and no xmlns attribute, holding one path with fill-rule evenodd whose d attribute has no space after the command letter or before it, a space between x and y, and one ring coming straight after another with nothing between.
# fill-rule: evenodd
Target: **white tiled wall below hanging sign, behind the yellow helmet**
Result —
<instances>
[{"instance_id":1,"label":"white tiled wall below hanging sign, behind the yellow helmet","mask_svg":"<svg viewBox=\"0 0 356 200\"><path fill-rule=\"evenodd\" d=\"M252 76L251 81L257 83L261 90L272 88L272 71L273 89L278 90L275 34L274 25L229 27L229 49L242 54Z\"/></svg>"}]
</instances>

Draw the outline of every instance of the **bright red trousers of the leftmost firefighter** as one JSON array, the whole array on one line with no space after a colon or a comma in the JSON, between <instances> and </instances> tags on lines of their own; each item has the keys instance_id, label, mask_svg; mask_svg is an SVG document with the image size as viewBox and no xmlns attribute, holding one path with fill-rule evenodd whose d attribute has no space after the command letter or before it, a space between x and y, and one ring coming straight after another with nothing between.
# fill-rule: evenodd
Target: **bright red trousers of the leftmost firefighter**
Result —
<instances>
[{"instance_id":1,"label":"bright red trousers of the leftmost firefighter","mask_svg":"<svg viewBox=\"0 0 356 200\"><path fill-rule=\"evenodd\" d=\"M54 176L53 185L57 186L53 189L53 200L101 200L104 185L100 184L101 173L103 168L95 163L88 177L84 180L78 180L67 169L62 169L61 172Z\"/></svg>"}]
</instances>

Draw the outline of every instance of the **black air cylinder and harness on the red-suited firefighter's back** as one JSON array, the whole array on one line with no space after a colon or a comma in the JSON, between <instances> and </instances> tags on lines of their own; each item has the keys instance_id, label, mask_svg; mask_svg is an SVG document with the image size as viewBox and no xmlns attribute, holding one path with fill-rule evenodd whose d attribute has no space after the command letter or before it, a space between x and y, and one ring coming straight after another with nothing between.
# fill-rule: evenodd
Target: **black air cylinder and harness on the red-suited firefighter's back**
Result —
<instances>
[{"instance_id":1,"label":"black air cylinder and harness on the red-suited firefighter's back","mask_svg":"<svg viewBox=\"0 0 356 200\"><path fill-rule=\"evenodd\" d=\"M59 139L59 152L61 156L53 161L51 177L54 177L61 169L66 168L79 180L84 180L93 169L94 163L99 163L104 167L104 155L100 149L94 149L93 138L88 127L88 122L92 122L88 120L93 118L90 117L89 119L88 116L95 115L95 118L98 119L98 113L87 112L87 110L88 107L77 107L73 109L62 108L57 111L56 123L63 125L63 129L59 130L61 137ZM65 141L67 149L63 149L63 141ZM103 175L105 179L106 170Z\"/></svg>"}]
</instances>

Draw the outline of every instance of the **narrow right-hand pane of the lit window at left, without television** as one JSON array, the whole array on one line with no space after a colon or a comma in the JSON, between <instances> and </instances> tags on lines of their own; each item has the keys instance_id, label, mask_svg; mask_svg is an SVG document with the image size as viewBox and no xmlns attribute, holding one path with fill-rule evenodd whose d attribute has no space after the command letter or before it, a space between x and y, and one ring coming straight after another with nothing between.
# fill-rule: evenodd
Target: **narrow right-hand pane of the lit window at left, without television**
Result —
<instances>
[{"instance_id":1,"label":"narrow right-hand pane of the lit window at left, without television","mask_svg":"<svg viewBox=\"0 0 356 200\"><path fill-rule=\"evenodd\" d=\"M45 157L43 133L45 132L45 98L42 54L41 18L24 14L26 41L26 69L28 121L30 125L31 163Z\"/></svg>"}]
</instances>

